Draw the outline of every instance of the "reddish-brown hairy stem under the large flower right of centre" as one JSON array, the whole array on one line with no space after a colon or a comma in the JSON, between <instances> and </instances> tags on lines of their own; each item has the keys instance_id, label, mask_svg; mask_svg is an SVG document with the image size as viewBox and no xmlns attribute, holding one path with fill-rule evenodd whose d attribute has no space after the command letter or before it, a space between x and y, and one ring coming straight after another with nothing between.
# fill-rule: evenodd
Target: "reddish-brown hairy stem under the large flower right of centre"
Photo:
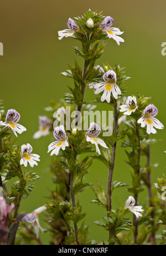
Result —
<instances>
[{"instance_id":1,"label":"reddish-brown hairy stem under the large flower right of centre","mask_svg":"<svg viewBox=\"0 0 166 256\"><path fill-rule=\"evenodd\" d=\"M113 132L115 131L116 134L118 132L118 112L117 112L117 102L115 102L115 106L113 107ZM110 212L112 209L112 175L115 165L115 153L116 153L116 142L112 145L112 153L111 153L111 160L110 160L110 168L108 171L108 181L107 181L107 212ZM112 236L112 232L110 231L109 237Z\"/></svg>"}]
</instances>

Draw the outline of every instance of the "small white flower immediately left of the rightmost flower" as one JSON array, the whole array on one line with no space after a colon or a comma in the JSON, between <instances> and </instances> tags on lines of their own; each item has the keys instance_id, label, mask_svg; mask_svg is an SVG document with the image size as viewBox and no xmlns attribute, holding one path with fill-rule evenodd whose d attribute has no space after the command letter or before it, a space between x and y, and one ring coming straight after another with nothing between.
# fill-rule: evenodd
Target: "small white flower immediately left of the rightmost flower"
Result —
<instances>
[{"instance_id":1,"label":"small white flower immediately left of the rightmost flower","mask_svg":"<svg viewBox=\"0 0 166 256\"><path fill-rule=\"evenodd\" d=\"M127 100L126 100L126 104L125 105L121 105L120 106L120 112L124 112L124 115L131 115L132 112L134 113L137 109L137 99L136 97L132 97L132 96L128 96Z\"/></svg>"}]
</instances>

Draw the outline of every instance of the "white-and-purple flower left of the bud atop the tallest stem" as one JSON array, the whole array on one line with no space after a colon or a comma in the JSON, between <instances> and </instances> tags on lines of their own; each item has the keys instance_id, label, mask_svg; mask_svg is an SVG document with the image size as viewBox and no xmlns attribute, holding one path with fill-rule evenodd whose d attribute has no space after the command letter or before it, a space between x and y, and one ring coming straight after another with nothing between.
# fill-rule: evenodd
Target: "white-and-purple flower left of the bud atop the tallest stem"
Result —
<instances>
[{"instance_id":1,"label":"white-and-purple flower left of the bud atop the tallest stem","mask_svg":"<svg viewBox=\"0 0 166 256\"><path fill-rule=\"evenodd\" d=\"M71 18L68 19L67 25L69 29L58 31L59 40L61 40L63 37L72 37L75 31L79 30L79 26L77 26L76 22Z\"/></svg>"}]
</instances>

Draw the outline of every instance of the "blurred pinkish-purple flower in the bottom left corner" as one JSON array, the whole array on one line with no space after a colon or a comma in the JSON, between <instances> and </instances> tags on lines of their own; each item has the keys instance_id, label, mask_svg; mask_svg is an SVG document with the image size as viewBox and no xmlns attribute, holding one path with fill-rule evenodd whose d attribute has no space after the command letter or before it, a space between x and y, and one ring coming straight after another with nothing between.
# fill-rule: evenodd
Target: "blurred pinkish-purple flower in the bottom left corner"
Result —
<instances>
[{"instance_id":1,"label":"blurred pinkish-purple flower in the bottom left corner","mask_svg":"<svg viewBox=\"0 0 166 256\"><path fill-rule=\"evenodd\" d=\"M6 243L8 235L9 214L14 209L14 203L9 206L3 197L0 197L0 242Z\"/></svg>"}]
</instances>

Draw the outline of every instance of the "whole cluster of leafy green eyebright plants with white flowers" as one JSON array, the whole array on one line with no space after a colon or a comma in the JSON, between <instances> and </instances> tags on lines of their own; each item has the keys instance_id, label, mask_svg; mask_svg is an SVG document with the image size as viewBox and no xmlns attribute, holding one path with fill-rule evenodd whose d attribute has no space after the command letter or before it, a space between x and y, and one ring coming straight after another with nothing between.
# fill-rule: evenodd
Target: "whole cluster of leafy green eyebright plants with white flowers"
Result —
<instances>
[{"instance_id":1,"label":"whole cluster of leafy green eyebright plants with white flowers","mask_svg":"<svg viewBox=\"0 0 166 256\"><path fill-rule=\"evenodd\" d=\"M151 182L151 172L156 166L151 164L151 145L157 142L151 134L164 126L154 117L158 109L152 104L151 97L139 94L125 96L125 84L129 77L124 68L118 64L98 63L105 47L104 40L114 39L118 45L125 42L119 36L123 32L112 27L113 23L110 16L104 17L102 13L89 10L81 17L69 18L68 28L58 32L59 40L72 38L80 42L81 49L74 47L74 50L84 60L84 67L76 59L74 65L68 64L69 69L61 74L73 80L72 88L68 86L70 93L66 93L59 103L51 101L45 108L48 115L39 116L39 130L34 133L34 139L48 134L55 137L51 143L48 141L50 172L55 188L45 205L32 213L20 214L19 206L33 190L33 183L29 185L29 182L39 178L24 167L28 163L32 168L38 165L39 155L32 153L30 144L20 147L15 145L15 141L11 142L12 132L17 136L26 129L17 124L20 114L14 109L6 114L3 101L0 101L0 186L3 187L3 196L1 194L0 197L1 244L42 244L39 229L49 232L51 244L55 245L92 245L98 242L109 245L166 244L165 203L161 196L163 186L166 186L165 175L158 178L154 184L155 190ZM115 42L111 40L108 43ZM85 91L91 89L94 98L87 102ZM98 103L107 104L113 110L110 136L102 136L103 126L100 127L95 121L90 122L86 131L80 129L79 113L96 109ZM66 107L75 111L77 116L76 119L69 117L70 121L75 121L72 129L66 129L66 119L63 119L68 115ZM63 121L63 124L55 125L55 119ZM81 125L83 123L84 120ZM117 144L120 143L125 148L126 163L132 174L131 186L123 181L113 181L113 172L117 171ZM146 165L142 163L142 157L146 157ZM100 182L97 185L84 182L84 176L94 161L101 161L108 169L106 188ZM9 190L8 181L14 177L17 181ZM84 192L86 187L91 187L94 192L95 198L91 202L105 209L105 216L95 221L99 232L100 228L108 232L105 240L101 237L97 242L88 236L89 226L84 224L86 213L81 202L76 200L76 195ZM126 193L126 202L112 209L112 193L116 193L116 188L120 187ZM142 201L139 193L144 190L148 191L148 198ZM131 194L129 197L128 193ZM42 212L45 212L48 223L45 230L39 224L39 213ZM91 226L93 223L89 224Z\"/></svg>"}]
</instances>

